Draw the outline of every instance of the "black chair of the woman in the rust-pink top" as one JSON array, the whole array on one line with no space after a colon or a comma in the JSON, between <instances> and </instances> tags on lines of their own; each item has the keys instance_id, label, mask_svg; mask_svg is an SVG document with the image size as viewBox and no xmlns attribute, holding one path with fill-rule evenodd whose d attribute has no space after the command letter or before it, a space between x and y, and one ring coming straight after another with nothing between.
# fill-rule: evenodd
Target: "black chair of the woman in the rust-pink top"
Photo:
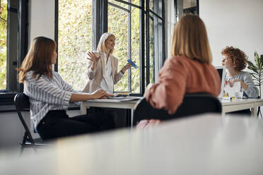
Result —
<instances>
[{"instance_id":1,"label":"black chair of the woman in the rust-pink top","mask_svg":"<svg viewBox=\"0 0 263 175\"><path fill-rule=\"evenodd\" d=\"M171 115L164 109L154 109L144 98L138 102L134 111L133 124L136 125L137 122L143 119L159 119L164 121L206 112L221 113L221 111L222 106L219 99L208 93L186 94L175 114Z\"/></svg>"}]
</instances>

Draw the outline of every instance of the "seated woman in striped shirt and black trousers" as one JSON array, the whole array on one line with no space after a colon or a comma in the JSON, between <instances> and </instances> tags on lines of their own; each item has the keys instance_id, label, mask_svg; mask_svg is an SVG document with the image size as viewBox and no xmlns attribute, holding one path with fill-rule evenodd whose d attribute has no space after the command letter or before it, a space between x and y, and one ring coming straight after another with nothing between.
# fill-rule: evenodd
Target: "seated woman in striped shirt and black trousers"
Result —
<instances>
[{"instance_id":1,"label":"seated woman in striped shirt and black trousers","mask_svg":"<svg viewBox=\"0 0 263 175\"><path fill-rule=\"evenodd\" d=\"M35 130L43 140L81 133L93 133L115 127L110 114L82 115L69 118L66 109L69 102L107 98L103 90L93 93L75 91L52 71L57 61L57 44L47 37L36 37L28 54L18 68L19 82L30 99L30 116Z\"/></svg>"}]
</instances>

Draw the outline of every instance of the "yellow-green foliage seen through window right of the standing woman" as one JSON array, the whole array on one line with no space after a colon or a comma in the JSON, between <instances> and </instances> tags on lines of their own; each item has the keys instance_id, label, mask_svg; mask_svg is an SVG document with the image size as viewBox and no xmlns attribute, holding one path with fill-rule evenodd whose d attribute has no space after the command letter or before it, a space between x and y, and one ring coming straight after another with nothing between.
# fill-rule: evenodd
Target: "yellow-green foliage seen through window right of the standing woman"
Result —
<instances>
[{"instance_id":1,"label":"yellow-green foliage seen through window right of the standing woman","mask_svg":"<svg viewBox=\"0 0 263 175\"><path fill-rule=\"evenodd\" d=\"M117 1L113 4L128 9L129 6ZM139 5L139 0L132 0L132 4ZM151 3L150 3L151 4ZM114 56L119 59L119 68L127 64L128 59L128 23L129 13L120 8L109 6L108 8L108 32L116 37ZM145 20L146 21L146 20ZM150 19L150 83L154 83L154 56L153 56L153 21ZM146 28L146 26L145 26ZM146 32L145 32L146 34ZM146 35L145 35L146 41ZM146 42L145 42L146 43ZM145 48L146 51L146 48ZM146 53L145 53L146 54ZM131 7L131 59L140 65L140 10ZM145 76L146 77L146 76ZM115 85L115 91L128 91L128 73ZM140 93L140 69L131 68L131 92Z\"/></svg>"}]
</instances>

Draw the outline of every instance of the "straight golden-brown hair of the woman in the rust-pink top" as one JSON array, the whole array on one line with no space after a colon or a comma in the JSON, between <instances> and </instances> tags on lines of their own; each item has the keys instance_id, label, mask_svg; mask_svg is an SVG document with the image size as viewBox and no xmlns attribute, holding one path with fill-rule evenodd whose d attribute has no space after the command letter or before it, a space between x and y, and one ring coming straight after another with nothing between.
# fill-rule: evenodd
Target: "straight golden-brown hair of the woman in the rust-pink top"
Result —
<instances>
[{"instance_id":1,"label":"straight golden-brown hair of the woman in the rust-pink top","mask_svg":"<svg viewBox=\"0 0 263 175\"><path fill-rule=\"evenodd\" d=\"M211 64L212 56L204 22L197 15L182 16L173 30L172 56L186 56Z\"/></svg>"}]
</instances>

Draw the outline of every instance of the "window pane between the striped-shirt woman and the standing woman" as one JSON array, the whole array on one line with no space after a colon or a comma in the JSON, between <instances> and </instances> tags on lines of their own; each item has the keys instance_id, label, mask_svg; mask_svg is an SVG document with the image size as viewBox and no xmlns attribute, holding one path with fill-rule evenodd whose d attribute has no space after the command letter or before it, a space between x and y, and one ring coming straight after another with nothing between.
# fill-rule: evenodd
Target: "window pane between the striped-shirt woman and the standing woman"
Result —
<instances>
[{"instance_id":1,"label":"window pane between the striped-shirt woman and the standing woman","mask_svg":"<svg viewBox=\"0 0 263 175\"><path fill-rule=\"evenodd\" d=\"M87 82L86 53L91 51L92 0L59 0L58 72L75 90Z\"/></svg>"}]
</instances>

